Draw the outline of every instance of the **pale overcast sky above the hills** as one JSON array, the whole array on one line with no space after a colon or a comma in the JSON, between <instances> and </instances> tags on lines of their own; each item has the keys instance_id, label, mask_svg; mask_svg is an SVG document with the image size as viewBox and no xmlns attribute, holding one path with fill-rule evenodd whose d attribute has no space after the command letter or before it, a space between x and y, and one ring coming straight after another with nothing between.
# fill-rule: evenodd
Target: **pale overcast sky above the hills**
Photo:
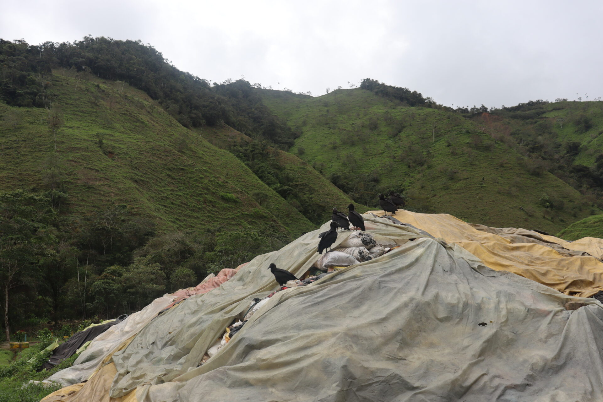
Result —
<instances>
[{"instance_id":1,"label":"pale overcast sky above the hills","mask_svg":"<svg viewBox=\"0 0 603 402\"><path fill-rule=\"evenodd\" d=\"M140 39L210 81L322 95L369 77L500 106L603 96L602 20L601 0L5 0L0 37Z\"/></svg>"}]
</instances>

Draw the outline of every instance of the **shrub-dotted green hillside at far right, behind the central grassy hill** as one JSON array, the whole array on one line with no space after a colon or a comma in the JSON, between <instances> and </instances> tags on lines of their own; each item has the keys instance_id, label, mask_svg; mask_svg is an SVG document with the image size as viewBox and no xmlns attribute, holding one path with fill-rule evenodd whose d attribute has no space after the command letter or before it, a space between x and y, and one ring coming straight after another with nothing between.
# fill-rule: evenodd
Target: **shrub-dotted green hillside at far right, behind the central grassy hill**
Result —
<instances>
[{"instance_id":1,"label":"shrub-dotted green hillside at far right, behind the central grassy hill","mask_svg":"<svg viewBox=\"0 0 603 402\"><path fill-rule=\"evenodd\" d=\"M603 102L538 100L474 109L455 111L531 160L532 169L554 174L603 207Z\"/></svg>"}]
</instances>

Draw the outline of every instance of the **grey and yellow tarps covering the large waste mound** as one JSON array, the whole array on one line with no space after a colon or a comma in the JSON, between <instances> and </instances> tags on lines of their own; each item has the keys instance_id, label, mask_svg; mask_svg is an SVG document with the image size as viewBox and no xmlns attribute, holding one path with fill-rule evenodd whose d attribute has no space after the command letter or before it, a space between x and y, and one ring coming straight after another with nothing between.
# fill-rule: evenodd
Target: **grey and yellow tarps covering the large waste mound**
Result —
<instances>
[{"instance_id":1,"label":"grey and yellow tarps covering the large waste mound","mask_svg":"<svg viewBox=\"0 0 603 402\"><path fill-rule=\"evenodd\" d=\"M210 291L158 315L182 297L165 295L113 325L49 378L66 388L43 401L603 398L603 305L573 296L603 288L603 240L378 213L363 216L395 245L387 254L280 290L270 263L308 272L327 222Z\"/></svg>"}]
</instances>

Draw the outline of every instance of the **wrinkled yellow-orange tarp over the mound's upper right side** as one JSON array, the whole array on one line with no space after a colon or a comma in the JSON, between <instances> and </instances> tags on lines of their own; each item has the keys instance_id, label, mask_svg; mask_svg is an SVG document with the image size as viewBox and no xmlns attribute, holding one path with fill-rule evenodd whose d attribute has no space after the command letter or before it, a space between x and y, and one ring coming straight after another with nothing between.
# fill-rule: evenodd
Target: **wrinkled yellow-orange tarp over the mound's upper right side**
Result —
<instances>
[{"instance_id":1,"label":"wrinkled yellow-orange tarp over the mound's upper right side","mask_svg":"<svg viewBox=\"0 0 603 402\"><path fill-rule=\"evenodd\" d=\"M384 215L383 211L368 213ZM525 229L471 225L443 213L398 210L393 217L460 245L496 271L513 272L570 296L591 297L603 290L603 239L584 237L567 242ZM590 255L571 256L572 252Z\"/></svg>"}]
</instances>

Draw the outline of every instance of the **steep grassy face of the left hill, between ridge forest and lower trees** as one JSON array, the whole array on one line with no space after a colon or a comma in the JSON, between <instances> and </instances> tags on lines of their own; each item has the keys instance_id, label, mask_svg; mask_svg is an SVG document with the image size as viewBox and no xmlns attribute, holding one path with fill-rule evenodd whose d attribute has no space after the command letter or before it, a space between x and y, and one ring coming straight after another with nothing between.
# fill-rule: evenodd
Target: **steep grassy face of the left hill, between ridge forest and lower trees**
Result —
<instances>
[{"instance_id":1,"label":"steep grassy face of the left hill, between ridge forest and lower trees","mask_svg":"<svg viewBox=\"0 0 603 402\"><path fill-rule=\"evenodd\" d=\"M57 152L74 212L127 204L156 217L163 231L254 227L290 238L314 229L230 152L182 127L143 92L68 75L55 71L50 82L63 115ZM0 104L0 189L42 187L40 166L53 149L48 111ZM268 193L270 210L254 192Z\"/></svg>"}]
</instances>

